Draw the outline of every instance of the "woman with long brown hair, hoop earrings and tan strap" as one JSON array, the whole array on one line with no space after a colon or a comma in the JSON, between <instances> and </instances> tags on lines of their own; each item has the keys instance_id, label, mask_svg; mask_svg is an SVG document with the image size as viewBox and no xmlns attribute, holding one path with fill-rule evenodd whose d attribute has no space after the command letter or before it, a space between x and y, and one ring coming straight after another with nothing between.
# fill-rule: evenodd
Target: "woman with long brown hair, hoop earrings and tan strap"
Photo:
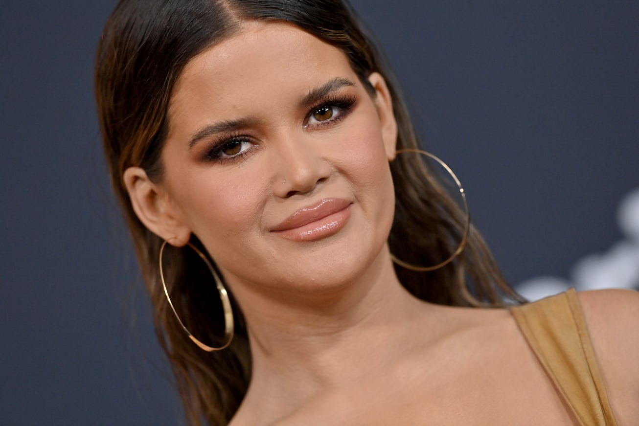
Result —
<instances>
[{"instance_id":1,"label":"woman with long brown hair, hoop earrings and tan strap","mask_svg":"<svg viewBox=\"0 0 639 426\"><path fill-rule=\"evenodd\" d=\"M190 423L639 418L637 294L494 309L521 300L341 1L121 1L96 96ZM535 327L548 312L573 312L557 345ZM585 372L546 353L574 336Z\"/></svg>"}]
</instances>

